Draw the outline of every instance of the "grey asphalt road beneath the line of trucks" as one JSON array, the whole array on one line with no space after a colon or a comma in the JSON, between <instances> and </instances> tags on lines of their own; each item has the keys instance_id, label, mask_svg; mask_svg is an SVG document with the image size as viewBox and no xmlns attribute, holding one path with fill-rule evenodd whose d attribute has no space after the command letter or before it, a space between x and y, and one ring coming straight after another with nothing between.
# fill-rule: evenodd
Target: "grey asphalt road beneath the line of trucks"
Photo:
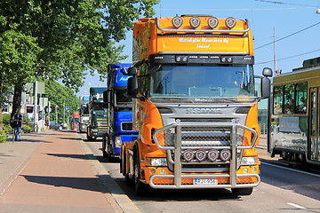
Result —
<instances>
[{"instance_id":1,"label":"grey asphalt road beneath the line of trucks","mask_svg":"<svg viewBox=\"0 0 320 213\"><path fill-rule=\"evenodd\" d=\"M320 212L320 176L273 164L264 145L257 148L261 159L261 183L250 196L236 197L228 189L151 190L137 197L125 185L118 162L101 156L101 141L87 141L79 134L111 177L141 212Z\"/></svg>"}]
</instances>

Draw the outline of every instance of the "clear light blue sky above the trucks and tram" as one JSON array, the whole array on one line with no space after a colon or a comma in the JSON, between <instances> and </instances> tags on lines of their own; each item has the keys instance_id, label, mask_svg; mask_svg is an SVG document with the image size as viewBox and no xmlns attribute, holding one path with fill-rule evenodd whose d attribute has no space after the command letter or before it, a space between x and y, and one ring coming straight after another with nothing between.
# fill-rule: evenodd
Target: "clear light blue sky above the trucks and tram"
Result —
<instances>
[{"instance_id":1,"label":"clear light blue sky above the trucks and tram","mask_svg":"<svg viewBox=\"0 0 320 213\"><path fill-rule=\"evenodd\" d=\"M159 0L154 6L155 17L174 17L181 14L209 14L217 18L232 16L249 20L254 38L255 75L263 67L275 70L274 32L276 40L276 69L283 73L302 67L303 60L320 57L320 0ZM275 29L275 30L274 30ZM132 31L126 34L122 63L132 63ZM270 43L270 44L268 44ZM265 44L268 44L264 46ZM77 96L89 95L92 86L105 87L99 74L87 75Z\"/></svg>"}]
</instances>

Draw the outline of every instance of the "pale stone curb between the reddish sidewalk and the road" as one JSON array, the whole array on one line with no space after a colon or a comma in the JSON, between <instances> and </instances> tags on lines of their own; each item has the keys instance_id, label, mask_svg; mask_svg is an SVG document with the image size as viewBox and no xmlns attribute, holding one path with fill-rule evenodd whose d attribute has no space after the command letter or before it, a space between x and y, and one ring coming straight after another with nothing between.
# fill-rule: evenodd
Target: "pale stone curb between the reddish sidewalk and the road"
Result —
<instances>
[{"instance_id":1,"label":"pale stone curb between the reddish sidewalk and the road","mask_svg":"<svg viewBox=\"0 0 320 213\"><path fill-rule=\"evenodd\" d=\"M104 169L102 164L95 158L90 148L84 143L84 140L81 138L79 138L78 140L80 146L84 150L84 153L92 162L93 168L97 171L97 176L100 177L102 184L108 188L108 191L109 193L111 193L112 198L116 201L122 211L124 213L140 213L140 210L137 208L137 206L134 205L132 200L130 200L129 197L120 188L120 186L116 184L116 181L110 176L108 171Z\"/></svg>"}]
</instances>

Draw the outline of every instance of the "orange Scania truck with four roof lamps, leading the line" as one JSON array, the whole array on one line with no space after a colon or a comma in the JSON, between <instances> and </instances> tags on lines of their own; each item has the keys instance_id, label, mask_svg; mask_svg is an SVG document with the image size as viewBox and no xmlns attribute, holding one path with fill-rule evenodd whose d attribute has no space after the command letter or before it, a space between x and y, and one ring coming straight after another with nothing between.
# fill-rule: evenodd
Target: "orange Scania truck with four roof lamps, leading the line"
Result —
<instances>
[{"instance_id":1,"label":"orange Scania truck with four roof lamps, leading the line","mask_svg":"<svg viewBox=\"0 0 320 213\"><path fill-rule=\"evenodd\" d=\"M128 94L139 138L122 146L120 170L135 193L150 185L251 194L260 184L258 101L270 95L272 70L254 76L248 21L140 19L132 51Z\"/></svg>"}]
</instances>

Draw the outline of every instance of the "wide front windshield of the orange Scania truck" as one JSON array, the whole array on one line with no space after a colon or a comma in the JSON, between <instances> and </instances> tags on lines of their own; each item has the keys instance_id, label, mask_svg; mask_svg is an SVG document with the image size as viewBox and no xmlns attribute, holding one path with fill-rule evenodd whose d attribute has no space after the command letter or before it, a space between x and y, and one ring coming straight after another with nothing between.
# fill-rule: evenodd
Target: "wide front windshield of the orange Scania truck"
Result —
<instances>
[{"instance_id":1,"label":"wide front windshield of the orange Scania truck","mask_svg":"<svg viewBox=\"0 0 320 213\"><path fill-rule=\"evenodd\" d=\"M151 97L228 98L254 96L253 68L162 66L151 75Z\"/></svg>"}]
</instances>

